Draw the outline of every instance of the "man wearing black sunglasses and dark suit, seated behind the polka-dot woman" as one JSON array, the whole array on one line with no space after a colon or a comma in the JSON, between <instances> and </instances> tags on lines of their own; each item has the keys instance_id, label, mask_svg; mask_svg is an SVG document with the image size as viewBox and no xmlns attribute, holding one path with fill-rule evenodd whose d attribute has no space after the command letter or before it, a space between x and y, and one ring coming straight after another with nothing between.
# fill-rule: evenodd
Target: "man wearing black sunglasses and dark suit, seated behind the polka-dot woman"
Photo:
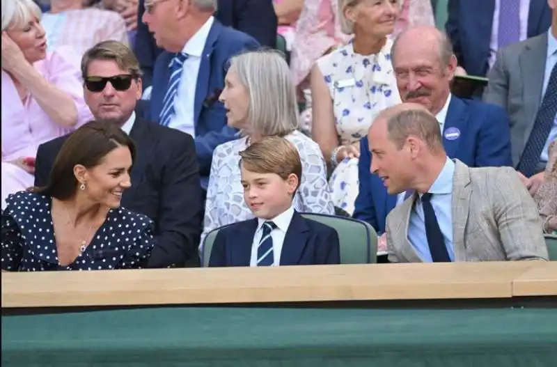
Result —
<instances>
[{"instance_id":1,"label":"man wearing black sunglasses and dark suit, seated behind the polka-dot woman","mask_svg":"<svg viewBox=\"0 0 557 367\"><path fill-rule=\"evenodd\" d=\"M203 198L194 139L188 134L141 118L141 70L132 51L104 41L81 62L85 100L95 120L116 123L137 146L132 187L123 207L155 221L157 244L149 267L198 266ZM35 185L45 186L54 159L68 136L38 148Z\"/></svg>"}]
</instances>

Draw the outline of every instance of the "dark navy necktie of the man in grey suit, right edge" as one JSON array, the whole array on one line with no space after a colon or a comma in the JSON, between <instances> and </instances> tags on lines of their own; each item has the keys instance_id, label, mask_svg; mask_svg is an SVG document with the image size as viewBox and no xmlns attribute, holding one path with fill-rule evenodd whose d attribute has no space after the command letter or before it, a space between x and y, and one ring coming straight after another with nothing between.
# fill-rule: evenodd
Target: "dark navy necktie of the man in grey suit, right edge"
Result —
<instances>
[{"instance_id":1,"label":"dark navy necktie of the man in grey suit, right edge","mask_svg":"<svg viewBox=\"0 0 557 367\"><path fill-rule=\"evenodd\" d=\"M549 83L545 90L542 104L535 116L532 132L520 157L517 171L531 177L536 173L536 167L540 163L540 155L549 138L551 125L553 125L557 114L557 64L554 65L549 76Z\"/></svg>"}]
</instances>

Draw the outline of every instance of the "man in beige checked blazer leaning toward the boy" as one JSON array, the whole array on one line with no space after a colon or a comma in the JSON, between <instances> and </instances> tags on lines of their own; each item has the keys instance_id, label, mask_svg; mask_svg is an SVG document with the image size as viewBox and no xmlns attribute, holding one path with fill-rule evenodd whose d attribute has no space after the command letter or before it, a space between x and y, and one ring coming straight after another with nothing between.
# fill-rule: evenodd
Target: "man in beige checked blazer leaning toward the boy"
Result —
<instances>
[{"instance_id":1,"label":"man in beige checked blazer leaning toward the boy","mask_svg":"<svg viewBox=\"0 0 557 367\"><path fill-rule=\"evenodd\" d=\"M547 260L538 209L515 170L449 159L427 109L384 110L368 139L371 171L389 194L407 192L386 219L391 263Z\"/></svg>"}]
</instances>

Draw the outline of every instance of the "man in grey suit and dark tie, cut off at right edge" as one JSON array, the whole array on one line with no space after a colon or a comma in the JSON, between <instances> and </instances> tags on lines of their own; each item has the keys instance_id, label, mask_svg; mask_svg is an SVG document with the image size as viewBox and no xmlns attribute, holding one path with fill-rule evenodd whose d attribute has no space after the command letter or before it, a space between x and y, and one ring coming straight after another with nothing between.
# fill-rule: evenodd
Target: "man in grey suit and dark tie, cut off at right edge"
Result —
<instances>
[{"instance_id":1,"label":"man in grey suit and dark tie, cut off at right edge","mask_svg":"<svg viewBox=\"0 0 557 367\"><path fill-rule=\"evenodd\" d=\"M531 194L543 180L549 144L557 139L557 0L547 2L549 31L499 49L483 95L510 116L512 161Z\"/></svg>"}]
</instances>

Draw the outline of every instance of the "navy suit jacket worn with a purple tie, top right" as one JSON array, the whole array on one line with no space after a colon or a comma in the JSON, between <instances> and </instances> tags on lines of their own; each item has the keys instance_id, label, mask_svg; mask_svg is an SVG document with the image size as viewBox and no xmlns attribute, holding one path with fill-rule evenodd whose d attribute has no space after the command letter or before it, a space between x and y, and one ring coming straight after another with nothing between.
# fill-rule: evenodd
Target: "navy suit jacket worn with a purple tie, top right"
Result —
<instances>
[{"instance_id":1,"label":"navy suit jacket worn with a purple tie, top right","mask_svg":"<svg viewBox=\"0 0 557 367\"><path fill-rule=\"evenodd\" d=\"M445 29L458 63L469 75L487 73L495 0L449 0ZM518 24L517 24L518 26ZM551 9L547 0L530 0L528 38L547 32Z\"/></svg>"}]
</instances>

